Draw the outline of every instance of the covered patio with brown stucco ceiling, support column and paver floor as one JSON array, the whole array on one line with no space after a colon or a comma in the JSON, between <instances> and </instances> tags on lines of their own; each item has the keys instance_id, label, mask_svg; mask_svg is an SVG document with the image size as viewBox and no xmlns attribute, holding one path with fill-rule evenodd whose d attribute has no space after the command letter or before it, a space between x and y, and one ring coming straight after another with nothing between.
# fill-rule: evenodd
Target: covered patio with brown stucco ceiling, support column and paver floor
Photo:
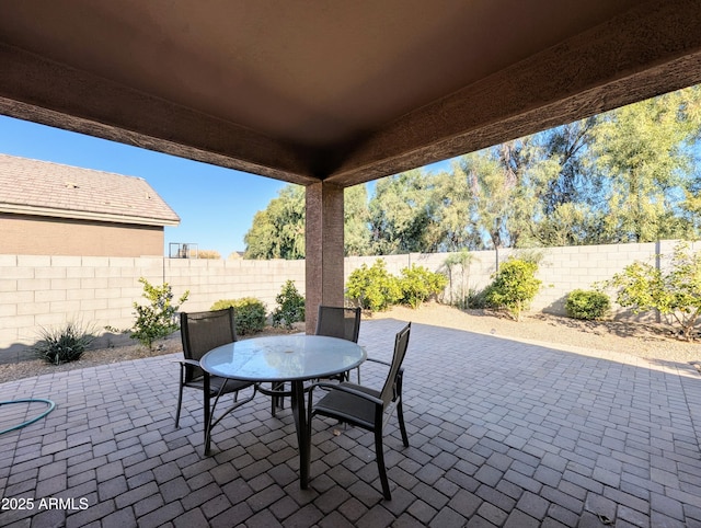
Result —
<instances>
[{"instance_id":1,"label":"covered patio with brown stucco ceiling, support column and paver floor","mask_svg":"<svg viewBox=\"0 0 701 528\"><path fill-rule=\"evenodd\" d=\"M304 185L311 333L343 302L345 187L701 82L698 0L320 3L7 2L0 113ZM360 343L388 357L399 326ZM701 526L689 366L416 325L405 368L391 502L371 437L333 424L300 491L291 416L265 398L205 458L194 395L174 428L168 357L4 383L57 409L0 436L2 496L76 509L0 524Z\"/></svg>"}]
</instances>

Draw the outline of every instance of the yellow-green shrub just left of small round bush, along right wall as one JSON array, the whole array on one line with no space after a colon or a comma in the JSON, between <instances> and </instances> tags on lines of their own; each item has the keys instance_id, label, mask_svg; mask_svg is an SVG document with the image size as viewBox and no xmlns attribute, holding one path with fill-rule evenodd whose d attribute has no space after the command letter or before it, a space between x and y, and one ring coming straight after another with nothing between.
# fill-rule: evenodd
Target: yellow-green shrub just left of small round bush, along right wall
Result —
<instances>
[{"instance_id":1,"label":"yellow-green shrub just left of small round bush, along right wall","mask_svg":"<svg viewBox=\"0 0 701 528\"><path fill-rule=\"evenodd\" d=\"M532 261L509 259L499 266L494 279L486 288L486 302L498 309L506 309L519 321L538 294L541 280L536 278L538 264Z\"/></svg>"}]
</instances>

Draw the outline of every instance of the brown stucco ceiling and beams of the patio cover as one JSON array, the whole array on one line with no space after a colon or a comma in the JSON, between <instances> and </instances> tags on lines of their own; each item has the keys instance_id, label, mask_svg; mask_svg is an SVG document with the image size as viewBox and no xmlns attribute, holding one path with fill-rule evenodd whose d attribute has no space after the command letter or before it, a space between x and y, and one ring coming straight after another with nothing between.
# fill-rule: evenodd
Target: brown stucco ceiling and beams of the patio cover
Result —
<instances>
[{"instance_id":1,"label":"brown stucco ceiling and beams of the patio cover","mask_svg":"<svg viewBox=\"0 0 701 528\"><path fill-rule=\"evenodd\" d=\"M690 0L3 0L0 113L346 186L701 82Z\"/></svg>"}]
</instances>

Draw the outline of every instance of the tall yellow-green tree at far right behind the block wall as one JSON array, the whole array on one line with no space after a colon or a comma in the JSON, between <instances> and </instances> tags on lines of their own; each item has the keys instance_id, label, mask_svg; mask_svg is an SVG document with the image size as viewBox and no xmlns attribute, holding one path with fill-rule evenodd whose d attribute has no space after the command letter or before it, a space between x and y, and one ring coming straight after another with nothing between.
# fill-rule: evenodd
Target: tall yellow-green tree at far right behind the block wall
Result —
<instances>
[{"instance_id":1,"label":"tall yellow-green tree at far right behind the block wall","mask_svg":"<svg viewBox=\"0 0 701 528\"><path fill-rule=\"evenodd\" d=\"M685 234L679 204L691 188L699 135L699 88L604 114L591 153L606 177L604 236L612 242L651 242Z\"/></svg>"}]
</instances>

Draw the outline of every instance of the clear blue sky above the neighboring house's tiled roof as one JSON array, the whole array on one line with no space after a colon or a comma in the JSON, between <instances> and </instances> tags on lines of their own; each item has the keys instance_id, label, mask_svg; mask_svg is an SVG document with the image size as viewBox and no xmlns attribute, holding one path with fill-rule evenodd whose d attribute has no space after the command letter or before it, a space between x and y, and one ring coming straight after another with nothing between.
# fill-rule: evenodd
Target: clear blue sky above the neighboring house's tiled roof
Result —
<instances>
[{"instance_id":1,"label":"clear blue sky above the neighboring house's tiled roof","mask_svg":"<svg viewBox=\"0 0 701 528\"><path fill-rule=\"evenodd\" d=\"M170 242L196 243L226 259L243 251L243 237L256 211L286 183L82 134L0 116L0 152L67 165L139 176L180 216L165 228ZM429 170L449 167L448 162Z\"/></svg>"}]
</instances>

